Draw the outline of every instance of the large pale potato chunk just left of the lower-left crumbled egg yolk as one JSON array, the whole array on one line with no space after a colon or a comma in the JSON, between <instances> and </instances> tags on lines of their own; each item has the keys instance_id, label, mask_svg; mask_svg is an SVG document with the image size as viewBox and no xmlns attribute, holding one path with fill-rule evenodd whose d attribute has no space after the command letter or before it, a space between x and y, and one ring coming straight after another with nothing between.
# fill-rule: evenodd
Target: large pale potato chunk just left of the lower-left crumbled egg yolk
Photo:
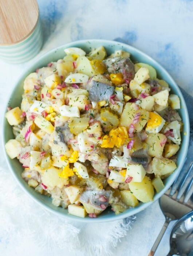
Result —
<instances>
[{"instance_id":1,"label":"large pale potato chunk just left of the lower-left crumbled egg yolk","mask_svg":"<svg viewBox=\"0 0 193 256\"><path fill-rule=\"evenodd\" d=\"M49 187L50 189L54 188L55 186L63 188L64 185L68 184L69 179L59 177L59 173L61 173L61 169L55 167L50 167L47 170L45 170L42 175L43 184Z\"/></svg>"}]
</instances>

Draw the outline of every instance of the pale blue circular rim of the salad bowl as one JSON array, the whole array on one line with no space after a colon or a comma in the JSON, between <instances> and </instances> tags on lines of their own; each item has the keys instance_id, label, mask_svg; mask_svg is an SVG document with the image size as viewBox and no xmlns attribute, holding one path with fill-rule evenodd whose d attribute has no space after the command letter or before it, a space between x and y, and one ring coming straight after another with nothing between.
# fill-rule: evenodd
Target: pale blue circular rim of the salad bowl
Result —
<instances>
[{"instance_id":1,"label":"pale blue circular rim of the salad bowl","mask_svg":"<svg viewBox=\"0 0 193 256\"><path fill-rule=\"evenodd\" d=\"M45 57L49 56L52 52L55 52L56 50L58 49L65 49L67 47L76 47L76 46L73 46L74 44L85 44L85 43L88 43L90 42L91 45L92 43L94 42L98 42L98 43L101 43L101 45L104 44L104 42L106 44L109 44L109 45L121 45L125 48L129 47L130 49L134 50L136 53L140 54L141 56L145 57L146 59L150 60L152 63L156 64L156 66L159 68L159 70L162 70L165 72L165 74L168 76L168 78L172 81L173 83L173 86L175 87L175 90L177 91L178 95L180 95L180 99L181 99L181 105L183 105L183 110L184 110L184 117L185 117L185 120L186 120L186 136L184 137L184 144L185 144L185 150L182 152L182 160L180 161L180 163L178 164L177 166L177 169L175 170L175 175L173 175L173 177L171 178L170 181L168 181L168 183L166 184L165 188L162 189L161 192L159 193L156 193L154 195L154 198L153 198L153 201L150 201L148 203L142 203L138 208L132 208L132 213L129 214L128 212L123 212L121 214L118 214L118 215L113 215L113 216L105 216L105 218L81 218L81 217L76 217L74 215L71 215L71 214L62 214L61 212L57 211L57 210L54 210L53 208L47 206L46 204L42 203L38 198L36 198L27 188L25 188L23 186L23 184L21 184L21 182L19 181L19 179L17 178L17 175L16 173L14 172L12 166L11 166L11 161L12 159L10 159L6 153L6 150L5 150L5 122L6 122L6 118L5 118L5 113L7 112L7 106L8 106L8 103L9 103L9 100L10 98L12 97L13 95L13 92L15 91L16 87L18 86L18 83L21 79L24 78L24 76L26 75L27 73L27 70L30 69L33 65L37 64L38 65L38 61L39 60L42 60L44 59ZM131 45L128 45L128 44L124 44L122 42L118 42L118 41L112 41L112 40L105 40L105 39L84 39L84 40L78 40L78 41L73 41L73 42L70 42L68 44L63 44L63 45L60 45L58 47L55 47L51 50L49 50L48 52L46 53L43 53L42 55L40 55L39 57L37 57L32 63L30 63L30 65L28 65L25 70L22 72L22 74L19 76L19 78L17 78L17 81L14 83L14 86L11 90L11 93L8 94L7 96L7 100L6 100L6 104L5 104L5 108L4 108L4 111L3 111L3 129L1 130L1 136L2 136L2 143L3 143L3 151L4 151L4 154L5 154L5 159L6 159L6 162L7 162L7 165L9 167L9 170L11 170L11 173L13 174L13 176L15 177L15 179L17 180L17 182L19 183L20 187L25 191L27 192L27 194L33 199L35 200L35 202L37 202L40 206L46 208L48 211L54 213L54 214L57 214L59 215L60 217L63 217L63 218L66 218L67 220L70 220L70 221L78 221L78 222L84 222L84 223L100 223L100 222L109 222L109 221L117 221L117 220L120 220L120 219L124 219L124 218L127 218L127 217L130 217L132 215L135 215L137 214L138 212L142 211L142 210L145 210L145 208L147 208L150 204L154 203L155 201L157 201L162 195L164 195L164 193L171 187L171 185L173 184L174 180L176 179L176 177L178 176L178 174L180 173L183 165L184 165L184 162L185 162L185 158L186 158L186 154L188 152L188 146L189 146L189 136L190 136L190 123L189 123L189 116L188 116L188 109L187 109L187 106L186 106L186 103L185 103L185 100L184 100L184 97L180 91L180 88L178 87L177 83L174 81L174 79L172 78L172 76L168 73L168 71L166 71L166 69L164 67L162 67L161 64L159 64L156 60L154 60L152 57L150 57L149 55L147 55L146 53L143 53L141 50L131 46Z\"/></svg>"}]
</instances>

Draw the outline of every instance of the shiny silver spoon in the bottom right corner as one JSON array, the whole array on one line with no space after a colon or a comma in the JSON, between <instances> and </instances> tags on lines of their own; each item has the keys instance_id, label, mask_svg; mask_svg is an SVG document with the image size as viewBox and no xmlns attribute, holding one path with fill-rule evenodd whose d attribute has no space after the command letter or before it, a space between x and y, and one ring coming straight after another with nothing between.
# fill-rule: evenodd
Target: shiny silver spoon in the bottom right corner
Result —
<instances>
[{"instance_id":1,"label":"shiny silver spoon in the bottom right corner","mask_svg":"<svg viewBox=\"0 0 193 256\"><path fill-rule=\"evenodd\" d=\"M193 211L179 219L170 233L168 256L193 256Z\"/></svg>"}]
</instances>

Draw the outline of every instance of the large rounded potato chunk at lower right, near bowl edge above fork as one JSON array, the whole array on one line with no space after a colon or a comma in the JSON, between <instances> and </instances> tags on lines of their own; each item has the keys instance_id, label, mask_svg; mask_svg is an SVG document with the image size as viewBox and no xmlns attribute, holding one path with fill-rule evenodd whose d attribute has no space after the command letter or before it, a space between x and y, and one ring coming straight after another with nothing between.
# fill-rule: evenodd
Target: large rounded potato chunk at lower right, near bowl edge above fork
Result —
<instances>
[{"instance_id":1,"label":"large rounded potato chunk at lower right, near bowl edge above fork","mask_svg":"<svg viewBox=\"0 0 193 256\"><path fill-rule=\"evenodd\" d=\"M176 163L168 158L154 157L151 161L151 173L157 176L168 177L176 169Z\"/></svg>"}]
</instances>

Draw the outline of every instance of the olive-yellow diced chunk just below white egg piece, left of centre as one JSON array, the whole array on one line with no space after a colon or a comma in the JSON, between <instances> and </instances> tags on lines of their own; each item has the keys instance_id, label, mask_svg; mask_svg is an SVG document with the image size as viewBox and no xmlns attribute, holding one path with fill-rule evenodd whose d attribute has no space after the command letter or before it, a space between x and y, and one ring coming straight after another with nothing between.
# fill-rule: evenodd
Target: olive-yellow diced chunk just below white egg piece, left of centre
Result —
<instances>
[{"instance_id":1,"label":"olive-yellow diced chunk just below white egg piece, left of centre","mask_svg":"<svg viewBox=\"0 0 193 256\"><path fill-rule=\"evenodd\" d=\"M68 121L68 127L70 128L70 132L75 135L78 135L80 132L87 129L87 127L89 126L88 121L89 121L89 118L87 117L81 117L81 118L71 117L70 120Z\"/></svg>"}]
</instances>

